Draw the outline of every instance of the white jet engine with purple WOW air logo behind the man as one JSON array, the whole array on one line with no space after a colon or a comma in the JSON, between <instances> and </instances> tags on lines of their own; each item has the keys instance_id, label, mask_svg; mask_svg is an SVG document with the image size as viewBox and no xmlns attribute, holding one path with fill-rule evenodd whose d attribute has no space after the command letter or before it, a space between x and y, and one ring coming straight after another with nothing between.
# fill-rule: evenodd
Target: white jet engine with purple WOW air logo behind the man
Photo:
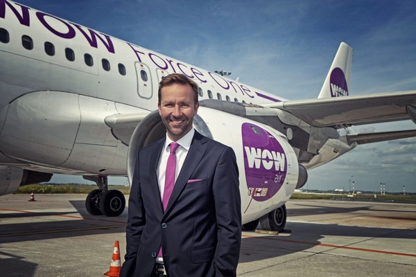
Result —
<instances>
[{"instance_id":1,"label":"white jet engine with purple WOW air logo behind the man","mask_svg":"<svg viewBox=\"0 0 416 277\"><path fill-rule=\"evenodd\" d=\"M297 162L295 151L286 136L257 121L208 107L199 107L197 116L193 118L193 127L201 134L229 145L236 153L243 224L265 215L270 221L266 229L281 230L284 224L273 223L277 216L279 222L283 217L286 223L286 208L281 206L307 179L306 170ZM137 151L162 139L165 134L158 111L150 113L137 126L128 150L130 184ZM279 213L268 215L275 210ZM281 211L284 211L283 215Z\"/></svg>"}]
</instances>

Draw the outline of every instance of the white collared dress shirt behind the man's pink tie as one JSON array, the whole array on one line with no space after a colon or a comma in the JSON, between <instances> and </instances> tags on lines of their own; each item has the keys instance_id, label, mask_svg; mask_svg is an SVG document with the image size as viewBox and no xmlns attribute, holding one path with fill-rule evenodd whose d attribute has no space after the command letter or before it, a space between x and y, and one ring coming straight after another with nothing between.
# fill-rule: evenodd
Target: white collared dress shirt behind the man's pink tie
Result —
<instances>
[{"instance_id":1,"label":"white collared dress shirt behind the man's pink tie","mask_svg":"<svg viewBox=\"0 0 416 277\"><path fill-rule=\"evenodd\" d=\"M177 175L179 175L179 172L184 164L185 158L187 157L189 147L191 147L193 134L195 134L195 129L192 128L188 134L182 136L182 138L176 141L176 143L180 146L176 150L175 182ZM171 148L169 145L172 142L173 141L166 135L166 141L162 149L162 153L160 154L159 164L157 165L156 169L157 180L159 181L160 199L163 199L166 163L168 163L168 157L171 153Z\"/></svg>"}]
</instances>

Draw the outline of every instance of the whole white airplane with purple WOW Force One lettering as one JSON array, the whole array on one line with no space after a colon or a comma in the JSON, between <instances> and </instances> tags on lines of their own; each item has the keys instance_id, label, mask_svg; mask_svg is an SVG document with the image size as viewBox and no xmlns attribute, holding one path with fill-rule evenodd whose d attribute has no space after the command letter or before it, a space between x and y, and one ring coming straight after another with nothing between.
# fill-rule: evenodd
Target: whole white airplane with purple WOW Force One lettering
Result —
<instances>
[{"instance_id":1,"label":"whole white airplane with purple WOW Force One lettering","mask_svg":"<svg viewBox=\"0 0 416 277\"><path fill-rule=\"evenodd\" d=\"M0 195L53 174L95 181L92 215L125 208L108 176L132 179L140 148L162 139L158 83L183 73L199 85L193 126L231 146L243 228L281 231L285 203L308 171L363 143L416 130L356 134L352 125L413 120L416 91L349 96L352 48L342 42L318 98L286 100L97 30L0 0ZM225 184L226 185L226 184Z\"/></svg>"}]
</instances>

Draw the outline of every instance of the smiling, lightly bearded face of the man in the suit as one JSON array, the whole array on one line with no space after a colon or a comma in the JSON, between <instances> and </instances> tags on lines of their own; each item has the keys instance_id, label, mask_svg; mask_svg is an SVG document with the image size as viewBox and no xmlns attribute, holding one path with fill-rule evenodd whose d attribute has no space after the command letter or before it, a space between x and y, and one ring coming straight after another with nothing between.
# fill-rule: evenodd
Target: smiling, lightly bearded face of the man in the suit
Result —
<instances>
[{"instance_id":1,"label":"smiling, lightly bearded face of the man in the suit","mask_svg":"<svg viewBox=\"0 0 416 277\"><path fill-rule=\"evenodd\" d=\"M157 105L162 122L172 141L177 141L192 129L193 116L199 103L193 102L190 85L171 84L163 87L160 103Z\"/></svg>"}]
</instances>

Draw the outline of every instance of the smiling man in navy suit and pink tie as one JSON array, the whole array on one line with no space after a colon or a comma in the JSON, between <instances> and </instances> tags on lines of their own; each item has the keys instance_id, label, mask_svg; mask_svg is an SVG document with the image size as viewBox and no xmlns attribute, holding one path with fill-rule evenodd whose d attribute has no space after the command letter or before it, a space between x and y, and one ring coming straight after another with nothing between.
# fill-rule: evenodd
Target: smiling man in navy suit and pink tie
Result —
<instances>
[{"instance_id":1,"label":"smiling man in navy suit and pink tie","mask_svg":"<svg viewBox=\"0 0 416 277\"><path fill-rule=\"evenodd\" d=\"M193 129L195 82L173 73L158 96L166 138L137 154L121 276L236 276L241 199L234 151ZM175 181L168 181L173 160Z\"/></svg>"}]
</instances>

